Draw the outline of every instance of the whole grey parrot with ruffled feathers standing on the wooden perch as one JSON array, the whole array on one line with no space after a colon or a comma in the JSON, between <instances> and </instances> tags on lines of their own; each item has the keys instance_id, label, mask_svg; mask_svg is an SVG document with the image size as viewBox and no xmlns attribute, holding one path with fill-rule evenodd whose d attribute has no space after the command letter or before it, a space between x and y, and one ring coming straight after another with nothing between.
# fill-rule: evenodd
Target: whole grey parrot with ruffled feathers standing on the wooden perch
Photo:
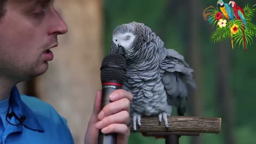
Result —
<instances>
[{"instance_id":1,"label":"whole grey parrot with ruffled feathers standing on the wooden perch","mask_svg":"<svg viewBox=\"0 0 256 144\"><path fill-rule=\"evenodd\" d=\"M159 124L172 106L184 115L188 86L196 87L193 69L183 56L166 49L163 41L143 23L131 22L113 31L111 53L119 53L126 60L126 80L123 89L133 94L131 117L133 130L141 126L141 116L158 116Z\"/></svg>"}]
</instances>

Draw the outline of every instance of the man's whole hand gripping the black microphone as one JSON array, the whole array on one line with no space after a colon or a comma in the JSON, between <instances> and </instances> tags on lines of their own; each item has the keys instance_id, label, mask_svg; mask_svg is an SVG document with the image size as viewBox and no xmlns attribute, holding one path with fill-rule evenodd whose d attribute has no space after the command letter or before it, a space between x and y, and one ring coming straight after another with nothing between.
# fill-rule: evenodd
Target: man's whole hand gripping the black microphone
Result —
<instances>
[{"instance_id":1,"label":"man's whole hand gripping the black microphone","mask_svg":"<svg viewBox=\"0 0 256 144\"><path fill-rule=\"evenodd\" d=\"M99 90L94 101L94 108L90 118L84 143L94 144L98 142L98 134L117 133L117 143L127 143L130 135L130 103L132 94L125 90L116 90L110 94L112 101L101 110L102 91Z\"/></svg>"}]
</instances>

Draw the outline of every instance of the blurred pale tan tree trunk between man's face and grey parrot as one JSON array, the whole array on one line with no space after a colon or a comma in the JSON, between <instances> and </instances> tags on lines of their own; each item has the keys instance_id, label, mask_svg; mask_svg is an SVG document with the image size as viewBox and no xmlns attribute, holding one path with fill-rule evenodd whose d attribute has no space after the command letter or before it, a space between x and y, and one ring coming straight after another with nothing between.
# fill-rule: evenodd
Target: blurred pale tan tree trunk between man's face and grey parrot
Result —
<instances>
[{"instance_id":1,"label":"blurred pale tan tree trunk between man's face and grey parrot","mask_svg":"<svg viewBox=\"0 0 256 144\"><path fill-rule=\"evenodd\" d=\"M68 121L75 143L83 143L95 92L101 89L102 1L57 0L68 26L53 49L47 72L35 79L36 93Z\"/></svg>"}]
</instances>

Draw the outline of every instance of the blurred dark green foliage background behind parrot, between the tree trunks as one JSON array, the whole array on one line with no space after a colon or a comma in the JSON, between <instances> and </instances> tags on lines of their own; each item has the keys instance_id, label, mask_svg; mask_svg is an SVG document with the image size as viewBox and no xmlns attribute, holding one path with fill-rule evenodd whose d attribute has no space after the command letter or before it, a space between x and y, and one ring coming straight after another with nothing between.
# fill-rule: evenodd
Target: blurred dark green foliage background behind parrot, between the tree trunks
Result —
<instances>
[{"instance_id":1,"label":"blurred dark green foliage background behind parrot, between the tree trunks","mask_svg":"<svg viewBox=\"0 0 256 144\"><path fill-rule=\"evenodd\" d=\"M171 0L173 1L173 0ZM191 1L191 0L190 0ZM109 53L112 30L123 23L132 21L145 23L155 33L161 37L165 42L165 47L172 48L182 55L189 52L187 44L189 23L189 5L188 1L174 2L175 5L167 7L167 0L111 0L103 1L104 9L104 25L105 25L105 53ZM238 5L244 7L247 3L255 4L255 0L251 1L236 1ZM226 1L228 3L228 1ZM203 10L213 5L217 5L217 1L201 1L198 4L202 13ZM164 11L168 10L168 11ZM170 13L166 13L170 12ZM166 19L167 15L167 19ZM203 102L203 116L204 117L221 117L220 109L218 108L217 100L217 71L218 71L218 45L221 43L211 43L210 35L212 34L212 27L207 21L204 21L203 15L195 15L195 20L199 20L199 45L201 50L201 67L202 67L202 98ZM253 22L256 23L254 17ZM163 27L167 26L167 27ZM164 29L163 29L164 28ZM231 85L231 94L233 94L234 101L234 130L236 143L256 143L254 135L256 135L255 119L256 114L254 111L256 98L254 97L255 82L256 82L256 66L254 60L256 57L255 40L252 46L247 47L247 52L244 52L242 47L234 47L231 49L230 41L226 41L231 55L230 74L228 76L228 83ZM225 42L224 42L225 43ZM188 48L187 48L188 46ZM187 51L187 52L186 52ZM189 63L189 61L188 61ZM220 100L221 101L221 100ZM223 119L225 121L225 119ZM201 134L203 138L202 143L207 144L222 144L224 142L225 123L222 121L222 129L220 134ZM129 143L164 143L163 139L146 138L140 133L132 133ZM190 143L190 137L181 137L180 143Z\"/></svg>"}]
</instances>

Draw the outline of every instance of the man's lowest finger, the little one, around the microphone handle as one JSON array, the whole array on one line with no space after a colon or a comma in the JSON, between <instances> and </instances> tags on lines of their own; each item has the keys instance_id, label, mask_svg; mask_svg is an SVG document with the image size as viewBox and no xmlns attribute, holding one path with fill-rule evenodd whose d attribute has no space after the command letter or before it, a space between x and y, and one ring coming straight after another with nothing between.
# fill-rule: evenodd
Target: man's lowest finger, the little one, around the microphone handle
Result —
<instances>
[{"instance_id":1,"label":"man's lowest finger, the little one, around the microphone handle","mask_svg":"<svg viewBox=\"0 0 256 144\"><path fill-rule=\"evenodd\" d=\"M129 133L130 129L127 127L126 124L110 124L107 127L104 127L101 132L102 133L118 133L118 134L124 134L127 135Z\"/></svg>"}]
</instances>

